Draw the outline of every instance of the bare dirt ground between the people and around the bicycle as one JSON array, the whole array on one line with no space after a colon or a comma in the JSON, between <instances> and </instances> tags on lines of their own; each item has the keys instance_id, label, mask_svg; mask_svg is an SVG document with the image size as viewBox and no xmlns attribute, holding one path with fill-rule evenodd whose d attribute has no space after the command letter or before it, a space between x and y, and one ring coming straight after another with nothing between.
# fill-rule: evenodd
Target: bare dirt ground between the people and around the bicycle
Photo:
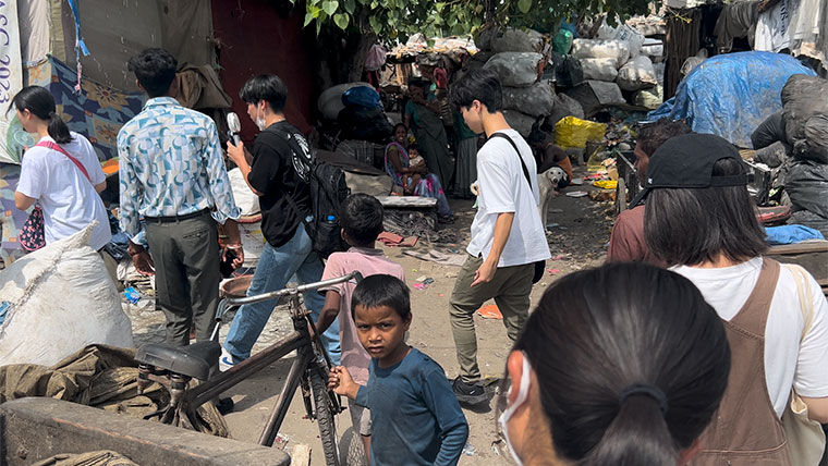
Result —
<instances>
[{"instance_id":1,"label":"bare dirt ground between the people and around the bicycle","mask_svg":"<svg viewBox=\"0 0 828 466\"><path fill-rule=\"evenodd\" d=\"M579 175L576 174L576 176ZM590 188L573 186L564 189L564 193L588 189ZM445 245L421 243L415 248L423 250L435 248L443 252L449 249L462 252L464 249L475 210L472 208L471 201L453 200L451 204L456 221L448 228L455 229L464 242ZM532 292L533 306L544 290L558 278L572 271L600 265L604 261L612 222L612 219L608 217L611 216L611 204L597 203L588 197L559 196L552 200L548 223L557 225L550 229L548 241L553 260L547 261L547 273ZM412 287L414 321L409 343L437 360L446 369L450 379L454 378L459 369L449 327L448 301L459 268L415 259L404 255L403 250L397 247L386 247L385 253L387 257L404 267L406 282L410 286L423 275L434 279L434 284L426 290ZM276 327L289 328L290 321L287 319L287 310L278 308L271 317L271 323L273 321L276 321ZM502 377L506 357L511 345L501 321L483 319L476 315L475 323L480 369L484 377L488 378L490 382L488 390L494 395L497 391L496 381ZM278 329L270 330L270 332L273 338L279 333ZM260 346L257 345L257 347ZM227 416L227 422L233 438L249 442L255 442L258 439L275 404L281 382L288 373L289 365L290 360L279 361L228 392L235 402L234 412ZM492 400L489 405L482 408L464 409L471 433L465 454L460 461L461 465L476 465L483 464L483 462L490 466L511 464L506 450L498 451L494 447L497 446L494 442L498 438L495 408L496 402ZM312 464L324 465L317 426L315 422L304 419L303 416L302 397L296 395L280 430L281 439L284 440L281 445L290 452L293 445L297 443L307 444L312 449ZM351 424L346 413L338 416L337 422L337 430L340 436Z\"/></svg>"}]
</instances>

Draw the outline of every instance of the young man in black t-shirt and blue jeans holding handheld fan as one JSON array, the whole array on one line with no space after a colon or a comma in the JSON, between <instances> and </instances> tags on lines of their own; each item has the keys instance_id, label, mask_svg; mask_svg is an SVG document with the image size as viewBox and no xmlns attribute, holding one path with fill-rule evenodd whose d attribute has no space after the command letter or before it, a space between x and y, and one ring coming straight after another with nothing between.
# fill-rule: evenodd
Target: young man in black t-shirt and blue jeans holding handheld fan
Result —
<instances>
[{"instance_id":1,"label":"young man in black t-shirt and blue jeans holding handheld fan","mask_svg":"<svg viewBox=\"0 0 828 466\"><path fill-rule=\"evenodd\" d=\"M261 74L245 83L239 96L247 103L247 114L260 133L251 155L243 143L228 143L228 155L244 175L251 191L259 197L261 233L267 241L259 257L247 295L258 295L284 287L296 277L300 283L319 281L324 265L316 244L321 221L314 219L316 204L312 195L316 160L307 140L284 118L288 88L272 74ZM329 217L334 217L333 214ZM336 219L331 218L330 221ZM322 232L320 231L319 234ZM336 229L339 235L339 229ZM321 312L325 298L316 292L304 295L314 320ZM276 301L242 306L230 326L220 365L222 370L251 356L251 348L265 328ZM339 326L322 334L334 364L339 364Z\"/></svg>"}]
</instances>

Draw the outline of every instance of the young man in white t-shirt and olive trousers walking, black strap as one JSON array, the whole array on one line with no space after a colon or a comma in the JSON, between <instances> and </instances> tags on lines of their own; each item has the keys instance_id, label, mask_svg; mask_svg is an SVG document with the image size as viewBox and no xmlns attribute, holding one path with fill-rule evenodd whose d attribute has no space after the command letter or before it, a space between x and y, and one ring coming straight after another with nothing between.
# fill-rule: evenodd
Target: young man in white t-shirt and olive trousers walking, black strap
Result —
<instances>
[{"instance_id":1,"label":"young man in white t-shirt and olive trousers walking, black strap","mask_svg":"<svg viewBox=\"0 0 828 466\"><path fill-rule=\"evenodd\" d=\"M514 342L528 318L535 262L550 257L538 213L537 168L528 144L502 113L497 73L468 72L451 88L452 105L475 133L488 142L477 152L477 214L472 223L468 258L458 273L449 302L460 377L458 400L480 404L487 396L477 365L474 312L494 298Z\"/></svg>"}]
</instances>

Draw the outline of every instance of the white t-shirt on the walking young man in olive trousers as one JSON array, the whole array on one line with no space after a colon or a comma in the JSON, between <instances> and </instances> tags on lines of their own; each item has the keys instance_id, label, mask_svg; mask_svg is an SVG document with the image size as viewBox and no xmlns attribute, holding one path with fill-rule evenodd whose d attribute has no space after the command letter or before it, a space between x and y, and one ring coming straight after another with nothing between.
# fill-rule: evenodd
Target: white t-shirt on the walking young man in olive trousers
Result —
<instances>
[{"instance_id":1,"label":"white t-shirt on the walking young man in olive trousers","mask_svg":"<svg viewBox=\"0 0 828 466\"><path fill-rule=\"evenodd\" d=\"M537 168L532 149L514 130L506 130L521 150L529 171L532 188L526 183L521 161L514 147L501 137L491 137L477 152L477 214L472 222L472 241L466 250L472 256L486 258L495 240L498 213L514 212L514 221L498 267L521 266L551 257L546 233L540 224L537 187Z\"/></svg>"}]
</instances>

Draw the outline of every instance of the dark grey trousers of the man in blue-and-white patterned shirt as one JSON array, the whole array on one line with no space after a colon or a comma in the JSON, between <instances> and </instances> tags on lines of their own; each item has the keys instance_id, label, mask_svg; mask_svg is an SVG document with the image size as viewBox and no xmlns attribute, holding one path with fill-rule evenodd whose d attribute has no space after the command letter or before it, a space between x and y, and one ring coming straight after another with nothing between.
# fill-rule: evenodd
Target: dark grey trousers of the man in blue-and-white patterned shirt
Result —
<instances>
[{"instance_id":1,"label":"dark grey trousers of the man in blue-and-white patterned shirt","mask_svg":"<svg viewBox=\"0 0 828 466\"><path fill-rule=\"evenodd\" d=\"M167 317L167 344L210 339L219 303L218 229L209 212L159 223L147 219L147 243L156 268L156 303Z\"/></svg>"}]
</instances>

